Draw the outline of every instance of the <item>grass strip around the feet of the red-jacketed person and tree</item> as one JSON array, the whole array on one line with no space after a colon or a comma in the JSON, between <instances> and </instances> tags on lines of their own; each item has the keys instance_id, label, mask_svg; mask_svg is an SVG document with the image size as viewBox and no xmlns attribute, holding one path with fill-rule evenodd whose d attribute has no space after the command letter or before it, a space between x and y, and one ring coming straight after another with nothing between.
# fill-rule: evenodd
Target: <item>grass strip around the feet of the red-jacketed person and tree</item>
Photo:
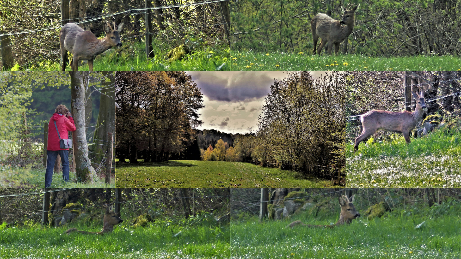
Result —
<instances>
[{"instance_id":1,"label":"grass strip around the feet of the red-jacketed person and tree","mask_svg":"<svg viewBox=\"0 0 461 259\"><path fill-rule=\"evenodd\" d=\"M45 188L45 170L46 167L38 167L33 169L30 174L31 177L26 180L24 185L27 188ZM115 178L111 178L111 183L106 184L104 176L102 178L97 177L93 184L83 184L75 182L77 179L76 174L69 173L69 182L65 183L62 179L62 171L59 173L53 173L53 181L51 182L50 188L115 188Z\"/></svg>"}]
</instances>

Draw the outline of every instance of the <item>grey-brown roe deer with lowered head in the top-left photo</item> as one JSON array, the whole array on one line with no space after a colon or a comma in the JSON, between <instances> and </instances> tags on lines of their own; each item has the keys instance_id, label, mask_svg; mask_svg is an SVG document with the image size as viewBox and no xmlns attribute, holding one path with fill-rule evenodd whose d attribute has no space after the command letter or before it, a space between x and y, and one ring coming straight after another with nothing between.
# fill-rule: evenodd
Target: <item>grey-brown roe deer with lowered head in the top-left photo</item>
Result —
<instances>
[{"instance_id":1,"label":"grey-brown roe deer with lowered head in the top-left photo","mask_svg":"<svg viewBox=\"0 0 461 259\"><path fill-rule=\"evenodd\" d=\"M112 22L113 23L113 22ZM76 23L66 23L59 32L59 46L61 48L62 66L61 70L65 70L67 62L67 52L72 53L71 69L78 70L79 60L88 60L88 67L93 71L93 60L96 55L105 52L112 47L121 47L119 32L123 29L123 22L118 24L117 29L115 23L112 29L109 22L104 24L104 32L106 37L98 40L96 36L88 30L82 29Z\"/></svg>"}]
</instances>

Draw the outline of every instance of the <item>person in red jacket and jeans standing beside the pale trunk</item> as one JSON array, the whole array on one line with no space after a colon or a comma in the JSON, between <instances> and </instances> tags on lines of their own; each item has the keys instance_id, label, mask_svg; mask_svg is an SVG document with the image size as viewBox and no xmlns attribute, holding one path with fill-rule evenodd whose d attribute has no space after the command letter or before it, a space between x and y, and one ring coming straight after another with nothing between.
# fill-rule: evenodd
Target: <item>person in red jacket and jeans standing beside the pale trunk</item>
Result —
<instances>
[{"instance_id":1,"label":"person in red jacket and jeans standing beside the pale trunk","mask_svg":"<svg viewBox=\"0 0 461 259\"><path fill-rule=\"evenodd\" d=\"M54 126L56 122L56 126ZM59 104L54 110L53 116L48 124L48 147L47 147L47 171L45 172L45 188L50 188L53 180L53 169L56 157L61 157L62 161L62 178L65 182L69 181L69 149L59 147L59 136L56 131L59 130L61 139L68 139L68 131L75 131L74 119L69 109L64 104Z\"/></svg>"}]
</instances>

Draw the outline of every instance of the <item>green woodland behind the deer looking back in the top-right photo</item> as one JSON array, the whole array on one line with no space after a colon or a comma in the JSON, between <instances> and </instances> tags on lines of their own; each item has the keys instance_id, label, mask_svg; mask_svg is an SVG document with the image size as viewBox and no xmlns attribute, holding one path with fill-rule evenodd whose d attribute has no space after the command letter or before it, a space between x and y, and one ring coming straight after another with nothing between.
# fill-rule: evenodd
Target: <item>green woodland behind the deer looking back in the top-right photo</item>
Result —
<instances>
[{"instance_id":1,"label":"green woodland behind the deer looking back in the top-right photo","mask_svg":"<svg viewBox=\"0 0 461 259\"><path fill-rule=\"evenodd\" d=\"M312 53L317 13L341 20L351 1L231 1L232 50ZM355 28L341 53L372 56L460 55L461 3L456 0L352 1ZM326 50L326 48L325 48Z\"/></svg>"}]
</instances>

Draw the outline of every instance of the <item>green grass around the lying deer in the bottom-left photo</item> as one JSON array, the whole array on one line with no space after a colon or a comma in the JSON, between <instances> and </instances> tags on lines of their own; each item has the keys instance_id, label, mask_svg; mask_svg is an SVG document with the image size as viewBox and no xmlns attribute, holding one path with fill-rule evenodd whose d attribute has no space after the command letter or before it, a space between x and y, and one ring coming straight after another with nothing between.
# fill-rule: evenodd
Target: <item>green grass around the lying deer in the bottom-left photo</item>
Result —
<instances>
[{"instance_id":1,"label":"green grass around the lying deer in the bottom-left photo","mask_svg":"<svg viewBox=\"0 0 461 259\"><path fill-rule=\"evenodd\" d=\"M166 220L132 228L125 222L130 224L124 221L104 235L64 233L71 227L97 232L102 222L92 227L0 226L0 258L229 258L229 227L181 226Z\"/></svg>"}]
</instances>

